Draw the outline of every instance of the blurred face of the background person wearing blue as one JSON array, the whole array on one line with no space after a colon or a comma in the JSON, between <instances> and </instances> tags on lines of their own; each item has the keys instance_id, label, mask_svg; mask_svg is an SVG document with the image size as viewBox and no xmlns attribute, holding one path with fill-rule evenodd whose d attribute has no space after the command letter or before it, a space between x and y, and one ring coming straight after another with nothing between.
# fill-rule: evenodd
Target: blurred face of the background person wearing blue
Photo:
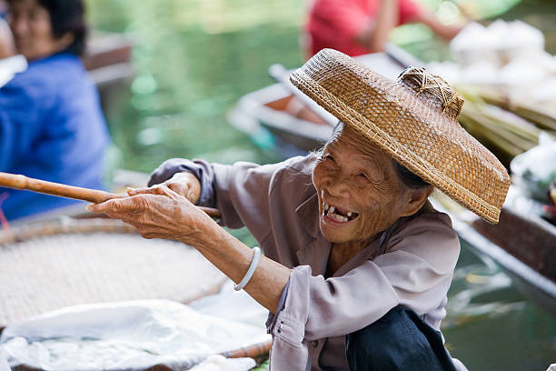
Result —
<instances>
[{"instance_id":1,"label":"blurred face of the background person wearing blue","mask_svg":"<svg viewBox=\"0 0 556 371\"><path fill-rule=\"evenodd\" d=\"M17 52L29 61L53 55L65 48L65 39L55 38L50 15L37 0L12 2L8 23L14 34Z\"/></svg>"}]
</instances>

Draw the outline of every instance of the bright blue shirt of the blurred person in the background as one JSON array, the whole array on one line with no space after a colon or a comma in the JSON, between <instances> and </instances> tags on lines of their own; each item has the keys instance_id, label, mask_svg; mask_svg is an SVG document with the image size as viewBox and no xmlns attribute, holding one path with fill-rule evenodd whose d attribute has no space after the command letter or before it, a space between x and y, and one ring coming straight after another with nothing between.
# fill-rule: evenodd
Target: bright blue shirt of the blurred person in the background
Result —
<instances>
[{"instance_id":1,"label":"bright blue shirt of the blurred person in the background","mask_svg":"<svg viewBox=\"0 0 556 371\"><path fill-rule=\"evenodd\" d=\"M52 55L0 88L0 171L102 188L108 135L98 94L79 58ZM8 220L72 200L0 189Z\"/></svg>"}]
</instances>

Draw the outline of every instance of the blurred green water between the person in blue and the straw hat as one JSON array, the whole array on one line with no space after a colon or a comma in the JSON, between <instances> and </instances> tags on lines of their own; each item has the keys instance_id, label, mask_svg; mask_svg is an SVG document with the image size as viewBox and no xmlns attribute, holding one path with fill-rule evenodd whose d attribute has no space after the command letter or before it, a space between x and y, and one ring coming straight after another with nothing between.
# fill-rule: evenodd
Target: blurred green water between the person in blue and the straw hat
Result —
<instances>
[{"instance_id":1,"label":"blurred green water between the person in blue and the straw hat","mask_svg":"<svg viewBox=\"0 0 556 371\"><path fill-rule=\"evenodd\" d=\"M273 81L273 63L301 65L299 0L90 1L96 28L134 37L137 77L109 118L124 167L150 171L164 158L270 162L225 112Z\"/></svg>"}]
</instances>

